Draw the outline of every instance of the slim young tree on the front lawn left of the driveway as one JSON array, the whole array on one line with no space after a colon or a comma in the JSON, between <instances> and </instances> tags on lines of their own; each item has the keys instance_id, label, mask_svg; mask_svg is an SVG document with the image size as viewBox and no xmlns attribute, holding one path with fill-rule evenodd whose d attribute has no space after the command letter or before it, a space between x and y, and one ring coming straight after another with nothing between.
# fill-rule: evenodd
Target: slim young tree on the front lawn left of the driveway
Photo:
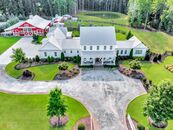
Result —
<instances>
[{"instance_id":1,"label":"slim young tree on the front lawn left of the driveway","mask_svg":"<svg viewBox=\"0 0 173 130\"><path fill-rule=\"evenodd\" d=\"M67 106L65 105L60 89L55 88L49 94L49 103L47 107L47 115L50 117L58 117L58 126L60 126L60 117L65 115Z\"/></svg>"}]
</instances>

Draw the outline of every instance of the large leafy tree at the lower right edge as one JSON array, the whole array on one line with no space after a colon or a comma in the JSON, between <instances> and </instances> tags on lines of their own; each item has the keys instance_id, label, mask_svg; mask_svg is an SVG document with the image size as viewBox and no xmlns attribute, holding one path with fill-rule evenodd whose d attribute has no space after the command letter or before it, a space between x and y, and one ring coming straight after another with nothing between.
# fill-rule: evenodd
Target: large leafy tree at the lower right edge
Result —
<instances>
[{"instance_id":1,"label":"large leafy tree at the lower right edge","mask_svg":"<svg viewBox=\"0 0 173 130\"><path fill-rule=\"evenodd\" d=\"M153 86L144 106L144 115L157 127L165 127L173 119L173 83L169 80Z\"/></svg>"}]
</instances>

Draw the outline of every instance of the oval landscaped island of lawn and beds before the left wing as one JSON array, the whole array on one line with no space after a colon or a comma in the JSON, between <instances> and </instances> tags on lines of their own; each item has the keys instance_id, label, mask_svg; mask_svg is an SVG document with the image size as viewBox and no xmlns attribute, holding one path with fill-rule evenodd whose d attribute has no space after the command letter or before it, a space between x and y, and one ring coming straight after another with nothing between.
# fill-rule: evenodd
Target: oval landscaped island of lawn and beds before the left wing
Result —
<instances>
[{"instance_id":1,"label":"oval landscaped island of lawn and beds before the left wing","mask_svg":"<svg viewBox=\"0 0 173 130\"><path fill-rule=\"evenodd\" d=\"M77 65L71 62L64 62L67 64L67 69L64 70L67 73L63 73L62 70L59 69L59 66L63 62L54 62L49 64L48 62L32 62L32 63L21 63L18 64L16 62L11 62L5 68L5 71L8 75L16 78L16 79L27 79L27 80L35 80L35 81L51 81L51 80L64 80L75 77L79 74L80 70ZM23 77L24 71L30 71L32 76ZM65 78L57 78L57 76L62 75ZM33 77L34 76L34 77Z\"/></svg>"}]
</instances>

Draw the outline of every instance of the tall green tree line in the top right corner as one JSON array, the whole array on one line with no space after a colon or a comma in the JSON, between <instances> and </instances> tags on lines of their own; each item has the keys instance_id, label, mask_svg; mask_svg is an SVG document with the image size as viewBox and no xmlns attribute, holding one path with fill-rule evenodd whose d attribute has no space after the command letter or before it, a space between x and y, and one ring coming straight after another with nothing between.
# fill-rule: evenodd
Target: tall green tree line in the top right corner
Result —
<instances>
[{"instance_id":1,"label":"tall green tree line in the top right corner","mask_svg":"<svg viewBox=\"0 0 173 130\"><path fill-rule=\"evenodd\" d=\"M172 0L129 0L128 14L132 26L173 32Z\"/></svg>"}]
</instances>

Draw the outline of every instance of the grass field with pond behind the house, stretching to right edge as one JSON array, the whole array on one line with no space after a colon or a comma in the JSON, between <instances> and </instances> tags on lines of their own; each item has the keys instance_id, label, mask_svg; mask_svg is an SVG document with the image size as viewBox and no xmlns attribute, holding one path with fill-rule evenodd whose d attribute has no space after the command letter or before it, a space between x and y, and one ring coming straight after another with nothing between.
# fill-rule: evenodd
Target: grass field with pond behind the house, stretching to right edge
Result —
<instances>
[{"instance_id":1,"label":"grass field with pond behind the house, stretching to right edge","mask_svg":"<svg viewBox=\"0 0 173 130\"><path fill-rule=\"evenodd\" d=\"M117 40L126 40L126 35L131 30L152 52L162 54L165 51L173 51L173 36L171 35L164 32L150 32L111 24L129 25L127 15L116 12L89 11L80 12L77 16L81 26L115 26ZM72 23L72 26L77 28L77 24L77 22Z\"/></svg>"}]
</instances>

